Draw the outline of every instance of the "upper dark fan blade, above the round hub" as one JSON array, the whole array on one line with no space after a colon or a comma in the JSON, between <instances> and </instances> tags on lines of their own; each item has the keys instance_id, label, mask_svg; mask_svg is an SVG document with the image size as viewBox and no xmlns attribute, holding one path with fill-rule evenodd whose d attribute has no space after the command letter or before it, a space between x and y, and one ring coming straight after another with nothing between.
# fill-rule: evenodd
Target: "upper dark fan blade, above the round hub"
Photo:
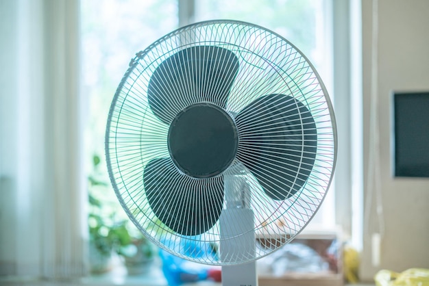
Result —
<instances>
[{"instance_id":1,"label":"upper dark fan blade, above the round hub","mask_svg":"<svg viewBox=\"0 0 429 286\"><path fill-rule=\"evenodd\" d=\"M147 89L152 112L170 124L184 107L201 101L225 108L238 73L238 57L220 47L197 46L175 53L154 71Z\"/></svg>"}]
</instances>

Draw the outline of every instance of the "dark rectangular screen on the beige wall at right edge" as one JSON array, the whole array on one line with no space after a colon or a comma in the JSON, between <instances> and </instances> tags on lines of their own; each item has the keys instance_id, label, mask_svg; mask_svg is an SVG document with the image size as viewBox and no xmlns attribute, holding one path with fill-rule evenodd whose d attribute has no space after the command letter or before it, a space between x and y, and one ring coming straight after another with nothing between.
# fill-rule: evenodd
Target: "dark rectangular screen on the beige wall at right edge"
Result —
<instances>
[{"instance_id":1,"label":"dark rectangular screen on the beige wall at right edge","mask_svg":"<svg viewBox=\"0 0 429 286\"><path fill-rule=\"evenodd\" d=\"M395 177L429 177L429 92L393 94Z\"/></svg>"}]
</instances>

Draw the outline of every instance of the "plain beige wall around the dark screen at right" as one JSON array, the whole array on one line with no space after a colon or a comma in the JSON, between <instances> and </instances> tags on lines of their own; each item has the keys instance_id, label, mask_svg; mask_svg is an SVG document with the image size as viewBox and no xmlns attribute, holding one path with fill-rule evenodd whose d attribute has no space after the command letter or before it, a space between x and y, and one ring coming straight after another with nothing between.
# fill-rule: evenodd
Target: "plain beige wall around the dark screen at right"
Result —
<instances>
[{"instance_id":1,"label":"plain beige wall around the dark screen at right","mask_svg":"<svg viewBox=\"0 0 429 286\"><path fill-rule=\"evenodd\" d=\"M371 111L371 47L373 2L362 1L363 16L363 118L365 200L364 242L361 278L370 281L380 269L403 271L429 268L429 180L395 179L391 175L391 92L429 90L429 1L378 0L378 55L376 94L380 146L373 161L380 159L384 235L380 243L380 265L371 262L371 235L380 231L376 192L368 187L370 164L369 118ZM374 77L373 77L374 78ZM429 110L428 110L429 112ZM428 127L429 131L429 127ZM373 190L377 190L373 188ZM383 224L381 224L383 226Z\"/></svg>"}]
</instances>

